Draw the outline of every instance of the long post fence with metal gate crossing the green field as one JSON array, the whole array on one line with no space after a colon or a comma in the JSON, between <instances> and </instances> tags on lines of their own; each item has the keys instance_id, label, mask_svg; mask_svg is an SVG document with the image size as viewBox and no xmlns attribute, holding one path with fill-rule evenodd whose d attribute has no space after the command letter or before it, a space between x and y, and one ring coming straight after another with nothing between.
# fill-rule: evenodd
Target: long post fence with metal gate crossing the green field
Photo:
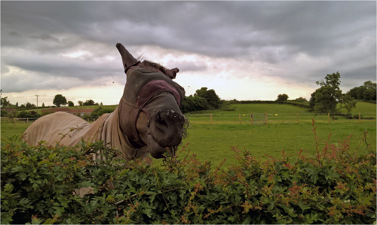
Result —
<instances>
[{"instance_id":1,"label":"long post fence with metal gate crossing the green field","mask_svg":"<svg viewBox=\"0 0 377 225\"><path fill-rule=\"evenodd\" d=\"M300 121L370 121L377 120L377 113L249 113L249 114L186 114L191 122L207 121L212 122L249 122L251 125L264 125L268 122L284 122L295 121L300 124ZM94 122L98 116L83 117L89 123ZM29 126L38 118L1 118L0 125L8 127L16 127L18 125Z\"/></svg>"}]
</instances>

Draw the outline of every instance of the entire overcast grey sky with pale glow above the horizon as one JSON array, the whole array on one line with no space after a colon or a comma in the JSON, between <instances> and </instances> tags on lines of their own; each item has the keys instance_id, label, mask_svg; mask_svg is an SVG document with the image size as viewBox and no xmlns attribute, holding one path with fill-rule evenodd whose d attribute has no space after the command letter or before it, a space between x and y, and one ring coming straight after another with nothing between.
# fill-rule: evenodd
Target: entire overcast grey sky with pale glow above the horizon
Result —
<instances>
[{"instance_id":1,"label":"entire overcast grey sky with pale glow above the horizon","mask_svg":"<svg viewBox=\"0 0 377 225\"><path fill-rule=\"evenodd\" d=\"M180 69L186 95L304 97L340 72L341 89L376 82L376 1L1 1L1 89L15 104L56 94L118 104L115 47ZM52 97L51 97L52 96Z\"/></svg>"}]
</instances>

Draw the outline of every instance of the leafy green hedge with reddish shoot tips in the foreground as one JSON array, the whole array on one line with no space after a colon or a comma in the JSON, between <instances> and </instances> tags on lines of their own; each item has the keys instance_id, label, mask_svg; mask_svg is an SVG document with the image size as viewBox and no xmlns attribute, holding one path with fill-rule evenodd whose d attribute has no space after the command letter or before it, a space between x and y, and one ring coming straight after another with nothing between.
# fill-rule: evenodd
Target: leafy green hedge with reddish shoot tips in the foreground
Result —
<instances>
[{"instance_id":1,"label":"leafy green hedge with reddish shoot tips in the foreground","mask_svg":"<svg viewBox=\"0 0 377 225\"><path fill-rule=\"evenodd\" d=\"M233 147L239 161L229 168L199 162L187 146L168 148L158 168L115 157L101 141L81 141L77 151L14 136L1 143L1 223L375 223L376 155L367 132L350 149L348 139L322 142L313 131L316 154L261 160ZM93 161L97 151L108 160ZM74 194L89 186L83 198Z\"/></svg>"}]
</instances>

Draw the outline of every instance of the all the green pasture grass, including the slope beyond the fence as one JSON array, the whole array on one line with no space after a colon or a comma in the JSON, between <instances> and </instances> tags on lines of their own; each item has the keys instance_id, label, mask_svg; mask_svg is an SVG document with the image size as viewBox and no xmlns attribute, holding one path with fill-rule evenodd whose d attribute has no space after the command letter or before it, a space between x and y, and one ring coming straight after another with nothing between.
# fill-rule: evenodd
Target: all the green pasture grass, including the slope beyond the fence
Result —
<instances>
[{"instance_id":1,"label":"all the green pasture grass, including the slope beyond the fence","mask_svg":"<svg viewBox=\"0 0 377 225\"><path fill-rule=\"evenodd\" d=\"M75 106L76 107L76 106ZM114 106L112 106L114 107ZM287 104L235 104L235 111L207 111L206 113L216 114L242 114L242 113L307 113L307 109ZM358 102L356 112L376 112L376 104ZM198 112L188 113L192 115ZM238 120L238 115L236 115ZM250 119L250 115L248 117ZM314 118L316 119L316 118ZM284 149L287 154L296 154L300 149L307 153L314 153L315 146L313 127L310 121L296 122L269 122L268 125L250 125L250 122L221 122L215 121L212 125L208 121L194 121L189 128L190 136L183 140L183 144L190 143L187 150L190 154L195 153L197 158L204 161L211 161L218 166L224 158L227 159L224 165L235 163L234 152L231 146L245 148L255 156L267 159L265 154L272 157L279 157ZM376 148L376 121L350 121L336 120L328 124L327 121L316 123L317 135L321 139L327 139L332 133L330 142L337 143L352 135L350 138L351 147L356 147L359 140L362 140L363 130L368 131L368 143ZM21 134L26 130L26 125L2 126L1 137L10 137L14 134ZM182 155L181 155L182 156ZM161 164L161 160L154 160L155 165Z\"/></svg>"}]
</instances>

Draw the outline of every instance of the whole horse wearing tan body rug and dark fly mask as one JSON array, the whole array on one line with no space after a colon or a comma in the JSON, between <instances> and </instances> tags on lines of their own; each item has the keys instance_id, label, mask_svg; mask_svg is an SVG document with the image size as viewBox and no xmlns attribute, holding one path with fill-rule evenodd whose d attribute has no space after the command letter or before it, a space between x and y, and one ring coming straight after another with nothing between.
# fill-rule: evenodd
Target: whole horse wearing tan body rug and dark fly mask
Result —
<instances>
[{"instance_id":1,"label":"whole horse wearing tan body rug and dark fly mask","mask_svg":"<svg viewBox=\"0 0 377 225\"><path fill-rule=\"evenodd\" d=\"M24 133L29 145L44 140L50 145L58 142L74 147L81 139L103 140L118 148L121 157L133 160L148 154L160 159L167 147L182 142L189 121L179 109L185 90L173 81L179 69L167 69L148 60L141 62L120 43L116 48L122 58L126 85L114 112L100 116L92 124L67 112L42 116ZM100 159L97 154L93 157Z\"/></svg>"}]
</instances>

